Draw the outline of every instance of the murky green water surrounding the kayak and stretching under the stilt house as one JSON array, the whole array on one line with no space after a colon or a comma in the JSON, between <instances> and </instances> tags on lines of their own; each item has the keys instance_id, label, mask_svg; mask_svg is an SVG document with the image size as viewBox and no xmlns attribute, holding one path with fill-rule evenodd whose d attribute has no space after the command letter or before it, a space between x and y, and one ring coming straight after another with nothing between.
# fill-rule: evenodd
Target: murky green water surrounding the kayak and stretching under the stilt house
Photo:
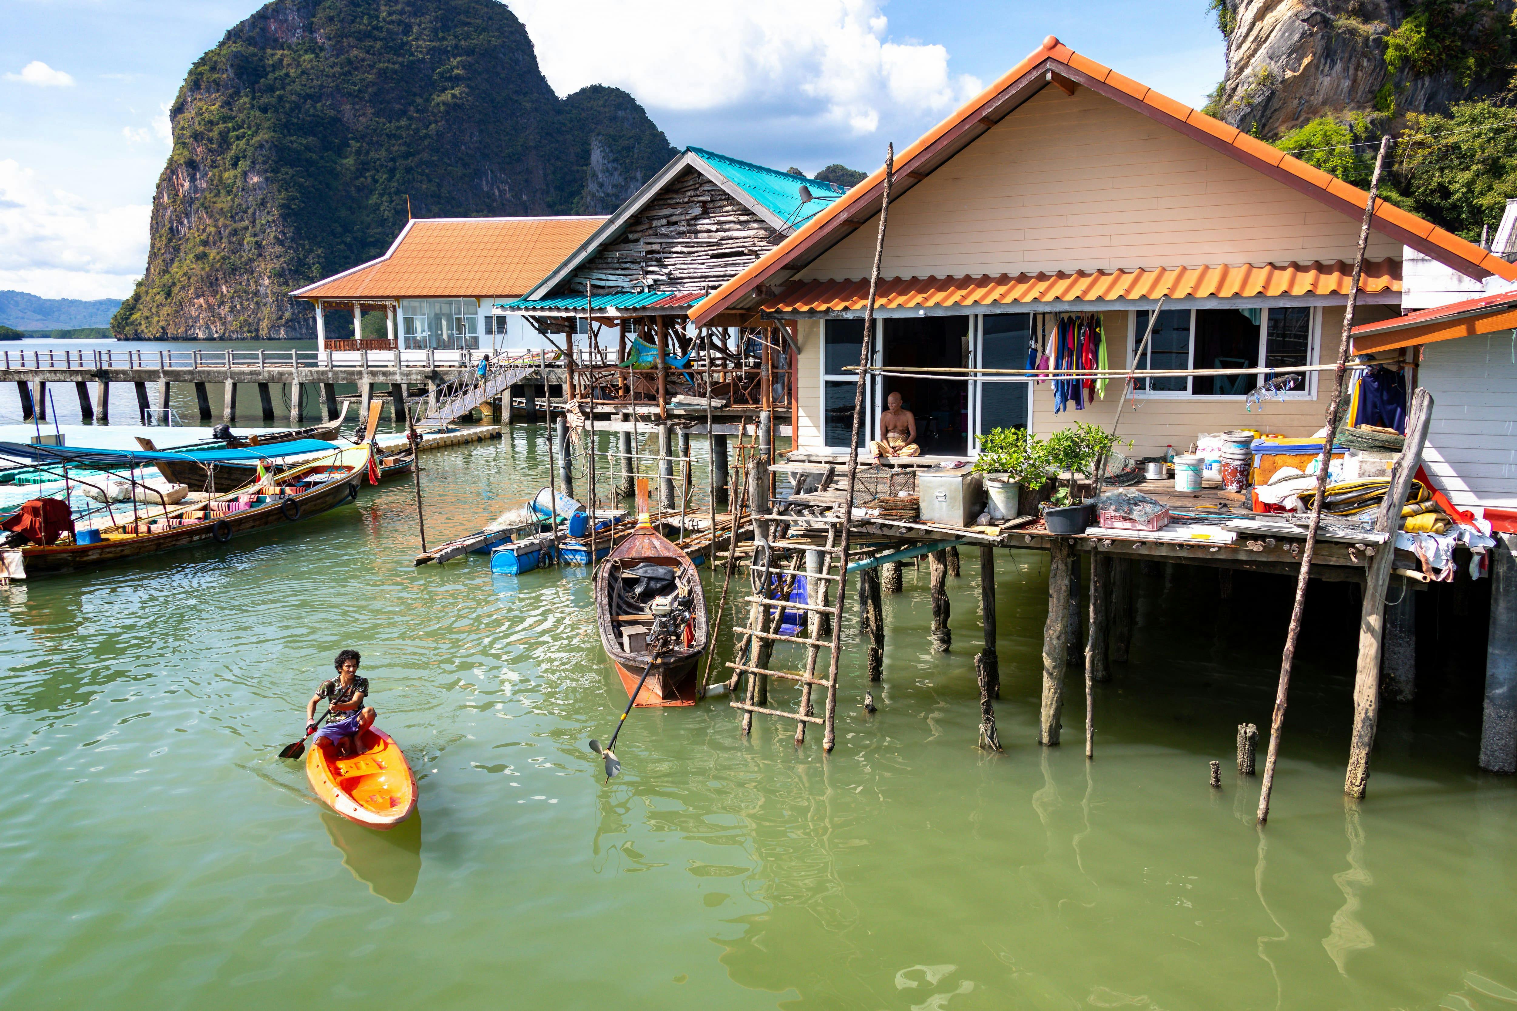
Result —
<instances>
[{"instance_id":1,"label":"murky green water surrounding the kayak and stretching under the stilt house","mask_svg":"<svg viewBox=\"0 0 1517 1011\"><path fill-rule=\"evenodd\" d=\"M539 430L426 458L434 541L543 484ZM1391 709L1371 797L1346 809L1352 644L1309 629L1255 831L1232 743L1268 721L1283 603L1220 621L1214 577L1144 584L1088 764L1033 744L1045 562L998 553L991 756L974 556L947 656L907 570L880 711L848 652L831 756L765 718L743 740L721 703L639 711L605 785L584 744L625 694L583 573L416 570L414 550L400 484L0 591L0 1006L1517 1005L1517 784L1475 772L1467 691ZM1271 587L1239 577L1227 606ZM1330 590L1318 612L1341 609ZM275 758L344 646L417 770L419 817L390 834Z\"/></svg>"}]
</instances>

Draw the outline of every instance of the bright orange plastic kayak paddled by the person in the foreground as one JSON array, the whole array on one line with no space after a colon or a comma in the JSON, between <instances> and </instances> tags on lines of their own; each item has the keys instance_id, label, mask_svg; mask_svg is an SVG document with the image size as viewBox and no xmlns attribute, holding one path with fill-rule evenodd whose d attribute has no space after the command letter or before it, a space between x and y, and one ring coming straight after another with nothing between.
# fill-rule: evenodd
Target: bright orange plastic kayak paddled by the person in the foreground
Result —
<instances>
[{"instance_id":1,"label":"bright orange plastic kayak paddled by the person in the foreground","mask_svg":"<svg viewBox=\"0 0 1517 1011\"><path fill-rule=\"evenodd\" d=\"M317 799L349 822L388 829L416 811L416 775L394 738L370 726L360 735L363 750L337 758L335 750L313 744L305 755L305 778Z\"/></svg>"}]
</instances>

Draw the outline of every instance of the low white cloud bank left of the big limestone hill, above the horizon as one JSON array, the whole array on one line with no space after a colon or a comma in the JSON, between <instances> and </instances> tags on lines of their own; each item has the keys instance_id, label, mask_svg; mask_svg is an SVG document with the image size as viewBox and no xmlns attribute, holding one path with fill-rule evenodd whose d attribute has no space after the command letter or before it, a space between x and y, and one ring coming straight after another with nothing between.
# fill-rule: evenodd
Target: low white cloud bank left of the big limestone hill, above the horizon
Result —
<instances>
[{"instance_id":1,"label":"low white cloud bank left of the big limestone hill, above the horizon","mask_svg":"<svg viewBox=\"0 0 1517 1011\"><path fill-rule=\"evenodd\" d=\"M0 159L0 288L121 299L147 259L149 205L97 206Z\"/></svg>"}]
</instances>

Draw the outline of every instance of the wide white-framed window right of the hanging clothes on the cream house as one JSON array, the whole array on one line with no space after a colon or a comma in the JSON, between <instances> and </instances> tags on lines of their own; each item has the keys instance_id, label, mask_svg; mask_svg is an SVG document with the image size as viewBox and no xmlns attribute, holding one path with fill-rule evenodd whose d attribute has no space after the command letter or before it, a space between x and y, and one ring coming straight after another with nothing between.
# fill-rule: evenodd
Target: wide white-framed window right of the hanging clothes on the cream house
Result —
<instances>
[{"instance_id":1,"label":"wide white-framed window right of the hanging clothes on the cream house","mask_svg":"<svg viewBox=\"0 0 1517 1011\"><path fill-rule=\"evenodd\" d=\"M1130 347L1148 330L1150 311L1133 312ZM1230 376L1161 376L1133 380L1153 396L1244 397L1279 370L1309 365L1315 355L1315 315L1308 306L1271 309L1164 309L1154 323L1148 349L1136 362L1141 370L1247 368ZM1315 396L1315 379L1302 382L1286 396Z\"/></svg>"}]
</instances>

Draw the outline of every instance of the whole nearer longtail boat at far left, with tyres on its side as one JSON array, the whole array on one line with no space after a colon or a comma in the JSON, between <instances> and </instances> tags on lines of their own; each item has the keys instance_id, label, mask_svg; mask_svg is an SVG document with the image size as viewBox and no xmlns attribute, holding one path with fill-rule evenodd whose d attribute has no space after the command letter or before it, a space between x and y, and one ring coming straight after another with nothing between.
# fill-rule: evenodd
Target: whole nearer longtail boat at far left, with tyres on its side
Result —
<instances>
[{"instance_id":1,"label":"whole nearer longtail boat at far left, with tyres on its side","mask_svg":"<svg viewBox=\"0 0 1517 1011\"><path fill-rule=\"evenodd\" d=\"M27 544L17 550L30 577L96 568L205 541L226 543L240 534L294 523L352 502L369 470L370 453L369 446L334 450L281 473L278 479L184 502L146 521L76 531L67 543ZM80 544L82 534L99 540Z\"/></svg>"}]
</instances>

